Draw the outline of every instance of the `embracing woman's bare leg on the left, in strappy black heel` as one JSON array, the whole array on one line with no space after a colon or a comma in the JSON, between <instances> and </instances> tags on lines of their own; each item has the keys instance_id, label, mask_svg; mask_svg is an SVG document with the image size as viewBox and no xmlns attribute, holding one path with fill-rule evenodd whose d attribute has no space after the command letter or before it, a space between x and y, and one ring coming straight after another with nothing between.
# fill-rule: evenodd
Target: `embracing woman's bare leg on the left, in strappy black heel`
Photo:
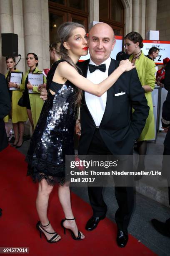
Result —
<instances>
[{"instance_id":1,"label":"embracing woman's bare leg on the left, in strappy black heel","mask_svg":"<svg viewBox=\"0 0 170 256\"><path fill-rule=\"evenodd\" d=\"M40 222L43 226L48 225L49 220L47 218L47 207L48 207L48 200L50 193L52 192L53 186L50 186L47 184L45 179L42 179L41 182L39 182L38 186L38 194L37 194L37 199L36 199L36 208L37 208L37 213L40 218ZM41 226L39 226L41 228ZM47 227L43 227L47 232L54 233L54 229L52 228L52 225L48 225ZM42 230L42 229L41 229ZM47 240L52 238L54 234L48 234L45 231L42 230L42 232L45 234L47 237ZM54 238L53 241L58 241L60 240L61 237L58 236Z\"/></svg>"}]
</instances>

